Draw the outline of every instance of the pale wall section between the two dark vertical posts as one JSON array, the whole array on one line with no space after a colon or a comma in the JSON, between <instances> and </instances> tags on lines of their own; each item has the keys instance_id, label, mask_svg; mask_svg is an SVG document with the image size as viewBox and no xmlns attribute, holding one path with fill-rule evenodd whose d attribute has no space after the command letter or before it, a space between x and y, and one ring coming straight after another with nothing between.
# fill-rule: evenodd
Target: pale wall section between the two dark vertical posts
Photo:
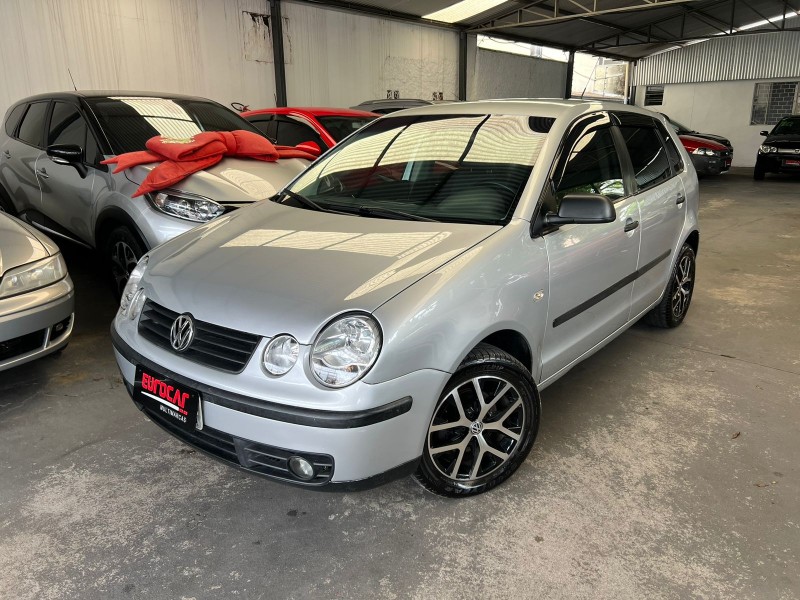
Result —
<instances>
[{"instance_id":1,"label":"pale wall section between the two dark vertical posts","mask_svg":"<svg viewBox=\"0 0 800 600\"><path fill-rule=\"evenodd\" d=\"M385 98L458 97L458 34L452 30L285 2L290 105L353 106Z\"/></svg>"}]
</instances>

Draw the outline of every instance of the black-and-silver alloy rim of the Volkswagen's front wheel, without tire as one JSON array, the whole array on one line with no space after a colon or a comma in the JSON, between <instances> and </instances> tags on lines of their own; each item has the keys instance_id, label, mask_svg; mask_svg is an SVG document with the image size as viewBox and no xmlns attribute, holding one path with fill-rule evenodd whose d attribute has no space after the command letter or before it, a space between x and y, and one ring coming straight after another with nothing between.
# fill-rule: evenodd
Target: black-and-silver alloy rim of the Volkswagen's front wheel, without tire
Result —
<instances>
[{"instance_id":1,"label":"black-and-silver alloy rim of the Volkswagen's front wheel, without tire","mask_svg":"<svg viewBox=\"0 0 800 600\"><path fill-rule=\"evenodd\" d=\"M426 442L431 462L459 483L486 477L514 455L527 417L519 391L507 380L465 381L436 407Z\"/></svg>"}]
</instances>

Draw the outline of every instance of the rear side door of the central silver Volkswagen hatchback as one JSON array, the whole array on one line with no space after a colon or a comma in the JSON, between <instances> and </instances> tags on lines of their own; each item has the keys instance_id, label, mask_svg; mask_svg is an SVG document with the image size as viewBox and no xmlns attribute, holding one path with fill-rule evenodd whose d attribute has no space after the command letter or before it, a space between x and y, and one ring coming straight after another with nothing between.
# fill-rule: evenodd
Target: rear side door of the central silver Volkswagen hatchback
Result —
<instances>
[{"instance_id":1,"label":"rear side door of the central silver Volkswagen hatchback","mask_svg":"<svg viewBox=\"0 0 800 600\"><path fill-rule=\"evenodd\" d=\"M642 243L631 302L631 318L637 318L661 297L672 268L686 216L686 193L678 177L683 161L655 119L631 113L615 116L630 156L641 215Z\"/></svg>"}]
</instances>

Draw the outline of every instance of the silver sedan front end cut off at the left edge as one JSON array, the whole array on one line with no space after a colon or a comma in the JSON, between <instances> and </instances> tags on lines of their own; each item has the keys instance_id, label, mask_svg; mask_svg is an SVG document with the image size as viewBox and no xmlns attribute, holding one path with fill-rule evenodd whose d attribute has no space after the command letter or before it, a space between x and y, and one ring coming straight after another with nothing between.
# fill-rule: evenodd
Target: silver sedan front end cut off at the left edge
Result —
<instances>
[{"instance_id":1,"label":"silver sedan front end cut off at the left edge","mask_svg":"<svg viewBox=\"0 0 800 600\"><path fill-rule=\"evenodd\" d=\"M0 371L63 349L74 308L58 246L0 210Z\"/></svg>"}]
</instances>

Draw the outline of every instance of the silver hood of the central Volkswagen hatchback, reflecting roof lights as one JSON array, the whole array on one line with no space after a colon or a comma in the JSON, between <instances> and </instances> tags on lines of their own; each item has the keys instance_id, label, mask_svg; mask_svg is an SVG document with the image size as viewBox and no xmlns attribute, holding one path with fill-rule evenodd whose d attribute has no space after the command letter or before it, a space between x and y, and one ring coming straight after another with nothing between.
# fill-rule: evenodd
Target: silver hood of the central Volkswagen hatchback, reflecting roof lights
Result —
<instances>
[{"instance_id":1,"label":"silver hood of the central Volkswagen hatchback, reflecting roof lights","mask_svg":"<svg viewBox=\"0 0 800 600\"><path fill-rule=\"evenodd\" d=\"M500 227L375 219L262 202L151 254L148 297L223 327L311 343L332 317L372 312Z\"/></svg>"}]
</instances>

